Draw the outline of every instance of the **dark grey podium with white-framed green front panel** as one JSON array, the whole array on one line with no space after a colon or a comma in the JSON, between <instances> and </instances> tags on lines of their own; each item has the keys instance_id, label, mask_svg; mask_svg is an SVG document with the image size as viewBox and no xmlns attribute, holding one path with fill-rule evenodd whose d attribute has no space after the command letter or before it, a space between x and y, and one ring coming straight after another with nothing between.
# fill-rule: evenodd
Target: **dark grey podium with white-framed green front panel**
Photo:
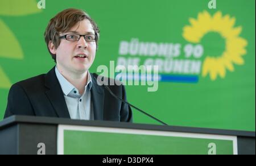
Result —
<instances>
[{"instance_id":1,"label":"dark grey podium with white-framed green front panel","mask_svg":"<svg viewBox=\"0 0 256 166\"><path fill-rule=\"evenodd\" d=\"M0 154L255 154L255 132L14 115Z\"/></svg>"}]
</instances>

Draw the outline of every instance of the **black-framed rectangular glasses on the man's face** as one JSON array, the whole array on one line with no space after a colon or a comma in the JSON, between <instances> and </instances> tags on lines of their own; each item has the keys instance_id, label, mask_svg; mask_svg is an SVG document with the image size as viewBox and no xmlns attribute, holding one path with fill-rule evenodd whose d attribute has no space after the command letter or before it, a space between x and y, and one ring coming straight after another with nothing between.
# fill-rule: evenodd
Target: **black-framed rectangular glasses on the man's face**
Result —
<instances>
[{"instance_id":1,"label":"black-framed rectangular glasses on the man's face","mask_svg":"<svg viewBox=\"0 0 256 166\"><path fill-rule=\"evenodd\" d=\"M88 35L67 34L64 36L60 36L60 39L66 39L70 42L77 42L80 40L81 36L84 37L84 40L86 42L96 42L97 41L97 35L93 35L93 34L88 34Z\"/></svg>"}]
</instances>

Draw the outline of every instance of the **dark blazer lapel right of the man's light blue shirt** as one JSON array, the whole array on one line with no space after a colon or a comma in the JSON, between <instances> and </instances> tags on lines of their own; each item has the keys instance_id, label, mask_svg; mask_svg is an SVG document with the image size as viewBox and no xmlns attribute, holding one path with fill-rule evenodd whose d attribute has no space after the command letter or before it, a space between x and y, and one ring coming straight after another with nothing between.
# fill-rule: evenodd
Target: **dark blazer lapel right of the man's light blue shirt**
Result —
<instances>
[{"instance_id":1,"label":"dark blazer lapel right of the man's light blue shirt","mask_svg":"<svg viewBox=\"0 0 256 166\"><path fill-rule=\"evenodd\" d=\"M96 75L91 74L93 86L91 89L94 120L103 120L104 116L104 89L97 84Z\"/></svg>"}]
</instances>

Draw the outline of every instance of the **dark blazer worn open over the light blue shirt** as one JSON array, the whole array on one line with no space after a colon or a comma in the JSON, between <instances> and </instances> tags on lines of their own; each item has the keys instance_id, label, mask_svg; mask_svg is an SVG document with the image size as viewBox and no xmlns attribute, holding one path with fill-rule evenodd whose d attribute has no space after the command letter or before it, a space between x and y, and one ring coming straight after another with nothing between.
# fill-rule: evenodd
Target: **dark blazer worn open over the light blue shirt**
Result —
<instances>
[{"instance_id":1,"label":"dark blazer worn open over the light blue shirt","mask_svg":"<svg viewBox=\"0 0 256 166\"><path fill-rule=\"evenodd\" d=\"M91 76L94 120L132 122L130 106L115 99L104 86L98 85L96 73ZM123 85L108 87L116 96L126 101ZM55 67L47 74L41 74L11 86L5 118L11 115L70 118Z\"/></svg>"}]
</instances>

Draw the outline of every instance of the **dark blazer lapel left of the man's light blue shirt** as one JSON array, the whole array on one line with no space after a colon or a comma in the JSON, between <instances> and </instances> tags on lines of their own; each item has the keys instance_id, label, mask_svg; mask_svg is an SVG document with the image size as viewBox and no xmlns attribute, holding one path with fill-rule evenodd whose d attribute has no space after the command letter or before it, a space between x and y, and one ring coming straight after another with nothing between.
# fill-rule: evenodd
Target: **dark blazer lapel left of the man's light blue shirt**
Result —
<instances>
[{"instance_id":1,"label":"dark blazer lapel left of the man's light blue shirt","mask_svg":"<svg viewBox=\"0 0 256 166\"><path fill-rule=\"evenodd\" d=\"M71 118L68 112L67 103L65 102L63 91L61 90L60 83L57 80L55 67L52 68L45 76L45 86L49 88L46 91L46 96L52 103L53 108L59 118Z\"/></svg>"}]
</instances>

